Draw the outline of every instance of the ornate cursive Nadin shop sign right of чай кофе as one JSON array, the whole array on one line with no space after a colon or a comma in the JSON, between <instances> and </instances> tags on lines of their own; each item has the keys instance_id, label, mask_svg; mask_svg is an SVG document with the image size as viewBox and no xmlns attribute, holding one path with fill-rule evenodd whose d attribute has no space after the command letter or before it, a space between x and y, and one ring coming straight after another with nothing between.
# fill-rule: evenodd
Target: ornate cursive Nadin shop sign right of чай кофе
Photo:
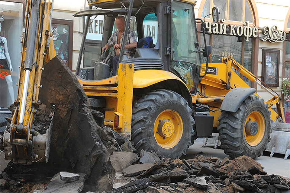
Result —
<instances>
[{"instance_id":1,"label":"ornate cursive Nadin shop sign right of \u0447\u0430\u0439 \u043a\u043e\u0444\u0435","mask_svg":"<svg viewBox=\"0 0 290 193\"><path fill-rule=\"evenodd\" d=\"M282 30L278 30L278 27L274 25L273 27L265 26L262 29L262 34L264 37L261 37L260 40L263 42L268 41L271 43L276 42L284 42L285 40L285 32Z\"/></svg>"}]
</instances>

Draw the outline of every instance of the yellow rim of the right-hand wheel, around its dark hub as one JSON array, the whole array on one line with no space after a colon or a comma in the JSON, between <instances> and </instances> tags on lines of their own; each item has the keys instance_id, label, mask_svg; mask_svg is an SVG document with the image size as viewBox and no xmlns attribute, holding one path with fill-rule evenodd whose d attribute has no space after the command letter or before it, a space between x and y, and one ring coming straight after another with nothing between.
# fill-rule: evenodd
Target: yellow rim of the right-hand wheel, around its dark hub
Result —
<instances>
[{"instance_id":1,"label":"yellow rim of the right-hand wheel, around its dark hub","mask_svg":"<svg viewBox=\"0 0 290 193\"><path fill-rule=\"evenodd\" d=\"M258 130L253 133L253 135L250 134L249 132L249 127L247 127L247 123L249 124L250 122L255 122L254 124L258 124ZM248 129L248 130L247 130ZM265 118L262 115L261 112L259 111L253 111L248 115L245 124L244 124L244 136L247 141L247 143L250 146L256 146L258 145L265 134Z\"/></svg>"}]
</instances>

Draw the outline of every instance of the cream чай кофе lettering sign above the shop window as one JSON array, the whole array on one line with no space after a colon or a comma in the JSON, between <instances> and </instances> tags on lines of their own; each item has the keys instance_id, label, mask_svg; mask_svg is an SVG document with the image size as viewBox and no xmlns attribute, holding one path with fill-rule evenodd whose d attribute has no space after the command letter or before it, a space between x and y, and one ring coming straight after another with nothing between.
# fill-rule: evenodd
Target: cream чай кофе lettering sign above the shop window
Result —
<instances>
[{"instance_id":1,"label":"cream \u0447\u0430\u0439 \u043a\u043e\u0444\u0435 lettering sign above the shop window","mask_svg":"<svg viewBox=\"0 0 290 193\"><path fill-rule=\"evenodd\" d=\"M250 37L256 38L259 36L259 29L257 27L250 27L248 22L246 22L246 26L205 22L205 28L208 30L208 33L212 34L243 36L246 42L249 41Z\"/></svg>"}]
</instances>

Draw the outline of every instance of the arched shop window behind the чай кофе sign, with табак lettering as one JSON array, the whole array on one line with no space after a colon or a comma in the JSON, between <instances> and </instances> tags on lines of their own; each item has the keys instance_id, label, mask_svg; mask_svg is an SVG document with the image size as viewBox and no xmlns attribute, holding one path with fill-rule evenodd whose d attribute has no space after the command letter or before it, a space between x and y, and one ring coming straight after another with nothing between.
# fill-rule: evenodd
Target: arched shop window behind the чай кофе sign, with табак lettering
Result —
<instances>
[{"instance_id":1,"label":"arched shop window behind the \u0447\u0430\u0439 \u043a\u043e\u0444\u0435 sign, with \u0442\u0430\u0431\u0430\u043a lettering","mask_svg":"<svg viewBox=\"0 0 290 193\"><path fill-rule=\"evenodd\" d=\"M243 26L246 25L245 21L249 21L250 25L253 25L253 12L249 0L204 0L204 7L201 7L201 16L205 16L206 13L210 12L213 6L219 8L221 12L220 19L225 19L228 24L234 21L234 25ZM207 18L205 19L206 22L212 23L212 19ZM222 57L231 56L234 60L252 72L253 38L250 37L249 41L246 41L244 37L208 33L206 34L206 39L207 45L212 46L210 62L220 63ZM204 48L202 33L200 34L199 42L201 49ZM202 62L205 63L206 59L202 58ZM237 74L251 86L251 81L242 76L239 72L237 72Z\"/></svg>"}]
</instances>

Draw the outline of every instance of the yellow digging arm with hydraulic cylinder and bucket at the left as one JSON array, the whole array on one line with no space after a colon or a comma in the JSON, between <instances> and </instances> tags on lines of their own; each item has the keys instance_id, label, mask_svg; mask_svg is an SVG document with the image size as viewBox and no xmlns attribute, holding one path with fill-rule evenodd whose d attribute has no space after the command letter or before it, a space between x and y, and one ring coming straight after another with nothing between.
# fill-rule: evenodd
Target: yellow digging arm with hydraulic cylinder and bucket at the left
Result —
<instances>
[{"instance_id":1,"label":"yellow digging arm with hydraulic cylinder and bucket at the left","mask_svg":"<svg viewBox=\"0 0 290 193\"><path fill-rule=\"evenodd\" d=\"M42 71L56 55L51 33L52 9L53 0L26 1L16 109L3 136L5 159L18 164L48 161L52 120L46 134L40 134L31 124L40 105Z\"/></svg>"}]
</instances>

